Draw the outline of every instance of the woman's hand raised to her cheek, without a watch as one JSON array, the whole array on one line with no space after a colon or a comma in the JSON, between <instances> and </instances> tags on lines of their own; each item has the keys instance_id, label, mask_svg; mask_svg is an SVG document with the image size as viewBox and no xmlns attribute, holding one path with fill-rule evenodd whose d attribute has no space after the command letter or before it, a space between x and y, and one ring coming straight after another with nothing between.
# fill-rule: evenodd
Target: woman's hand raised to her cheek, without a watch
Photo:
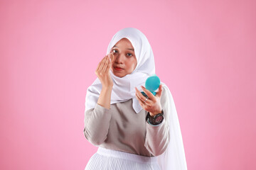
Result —
<instances>
[{"instance_id":1,"label":"woman's hand raised to her cheek, without a watch","mask_svg":"<svg viewBox=\"0 0 256 170\"><path fill-rule=\"evenodd\" d=\"M110 55L106 55L98 64L95 74L100 79L102 88L112 88L113 80L110 76L110 67L112 66L112 60Z\"/></svg>"}]
</instances>

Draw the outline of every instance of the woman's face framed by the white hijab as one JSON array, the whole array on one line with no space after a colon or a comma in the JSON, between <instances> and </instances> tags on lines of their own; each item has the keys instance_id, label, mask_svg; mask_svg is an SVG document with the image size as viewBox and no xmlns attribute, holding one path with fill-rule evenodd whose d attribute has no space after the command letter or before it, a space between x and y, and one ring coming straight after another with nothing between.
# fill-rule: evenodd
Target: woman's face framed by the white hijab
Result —
<instances>
[{"instance_id":1,"label":"woman's face framed by the white hijab","mask_svg":"<svg viewBox=\"0 0 256 170\"><path fill-rule=\"evenodd\" d=\"M127 38L119 40L110 50L114 55L111 70L117 77L124 77L132 73L137 66L134 47Z\"/></svg>"}]
</instances>

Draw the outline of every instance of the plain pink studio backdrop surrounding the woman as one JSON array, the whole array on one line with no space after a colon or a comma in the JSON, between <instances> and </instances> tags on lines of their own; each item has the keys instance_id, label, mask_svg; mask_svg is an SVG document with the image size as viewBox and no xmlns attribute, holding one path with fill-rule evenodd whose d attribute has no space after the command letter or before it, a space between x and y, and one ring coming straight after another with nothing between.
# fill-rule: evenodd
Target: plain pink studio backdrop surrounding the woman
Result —
<instances>
[{"instance_id":1,"label":"plain pink studio backdrop surrounding the woman","mask_svg":"<svg viewBox=\"0 0 256 170\"><path fill-rule=\"evenodd\" d=\"M112 35L148 38L188 169L256 169L256 3L0 1L0 169L84 169L86 89ZM254 78L253 78L254 77Z\"/></svg>"}]
</instances>

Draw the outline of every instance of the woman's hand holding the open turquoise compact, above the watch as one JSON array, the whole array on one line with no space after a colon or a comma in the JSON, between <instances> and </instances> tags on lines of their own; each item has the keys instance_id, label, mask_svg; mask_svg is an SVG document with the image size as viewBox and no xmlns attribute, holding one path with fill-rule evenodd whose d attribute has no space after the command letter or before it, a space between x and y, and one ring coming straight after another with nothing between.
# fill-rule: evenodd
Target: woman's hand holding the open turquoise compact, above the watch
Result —
<instances>
[{"instance_id":1,"label":"woman's hand holding the open turquoise compact, above the watch","mask_svg":"<svg viewBox=\"0 0 256 170\"><path fill-rule=\"evenodd\" d=\"M162 93L162 85L159 86L159 91L156 92L156 96L154 96L149 90L147 90L144 86L142 86L142 90L149 98L146 99L145 96L135 87L136 90L136 98L139 101L140 106L144 108L145 111L148 111L151 116L154 116L158 113L161 113L161 103L160 97Z\"/></svg>"}]
</instances>

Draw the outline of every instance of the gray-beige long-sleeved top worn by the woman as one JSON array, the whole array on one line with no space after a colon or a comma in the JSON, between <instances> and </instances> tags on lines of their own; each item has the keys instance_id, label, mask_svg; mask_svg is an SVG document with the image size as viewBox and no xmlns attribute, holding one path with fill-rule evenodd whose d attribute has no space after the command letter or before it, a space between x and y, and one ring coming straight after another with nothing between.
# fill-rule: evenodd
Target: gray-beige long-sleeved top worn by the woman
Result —
<instances>
[{"instance_id":1,"label":"gray-beige long-sleeved top worn by the woman","mask_svg":"<svg viewBox=\"0 0 256 170\"><path fill-rule=\"evenodd\" d=\"M96 103L95 108L85 111L84 134L97 147L114 149L146 157L162 154L170 141L166 124L166 91L163 88L161 106L164 121L157 126L146 123L146 111L136 113L132 98L113 103L110 109Z\"/></svg>"}]
</instances>

